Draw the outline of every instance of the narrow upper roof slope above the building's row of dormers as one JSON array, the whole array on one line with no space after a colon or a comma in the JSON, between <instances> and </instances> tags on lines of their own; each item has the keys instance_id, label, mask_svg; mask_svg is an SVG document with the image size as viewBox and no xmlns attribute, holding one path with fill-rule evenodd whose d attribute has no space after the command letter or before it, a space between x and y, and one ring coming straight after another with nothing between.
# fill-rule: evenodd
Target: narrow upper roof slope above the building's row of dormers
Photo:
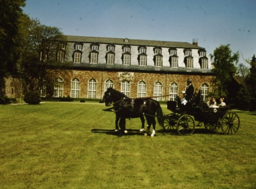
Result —
<instances>
[{"instance_id":1,"label":"narrow upper roof slope above the building's row of dormers","mask_svg":"<svg viewBox=\"0 0 256 189\"><path fill-rule=\"evenodd\" d=\"M154 41L154 40L132 40L128 39L125 42L125 38L99 38L99 37L87 37L87 36L66 36L67 42L90 42L99 44L121 44L121 45L131 45L131 46L158 46L165 48L193 48L205 50L205 48L194 46L187 42L164 42L164 41Z\"/></svg>"}]
</instances>

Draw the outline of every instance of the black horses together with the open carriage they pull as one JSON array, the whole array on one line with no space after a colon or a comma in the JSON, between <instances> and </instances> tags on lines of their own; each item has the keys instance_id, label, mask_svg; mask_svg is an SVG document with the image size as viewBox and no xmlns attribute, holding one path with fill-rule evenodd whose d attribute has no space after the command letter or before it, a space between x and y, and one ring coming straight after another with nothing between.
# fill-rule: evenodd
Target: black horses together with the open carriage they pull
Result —
<instances>
[{"instance_id":1,"label":"black horses together with the open carriage they pull","mask_svg":"<svg viewBox=\"0 0 256 189\"><path fill-rule=\"evenodd\" d=\"M195 131L195 121L197 125L204 125L205 129L216 132L222 129L224 134L234 134L238 131L240 119L236 113L228 112L230 106L225 107L208 107L199 101L189 101L186 105L182 105L181 100L168 101L167 109L172 111L167 115L163 115L162 108L158 101L151 98L136 98L131 99L125 94L108 88L104 93L102 99L106 106L113 105L116 113L116 129L121 128L119 135L125 133L125 119L140 117L141 129L144 127L144 119L148 122L148 127L145 135L150 132L150 126L153 126L152 134L155 134L156 121L158 119L159 125L162 125L164 131L171 131L177 129L180 135L191 135ZM110 109L104 109L109 111Z\"/></svg>"}]
</instances>

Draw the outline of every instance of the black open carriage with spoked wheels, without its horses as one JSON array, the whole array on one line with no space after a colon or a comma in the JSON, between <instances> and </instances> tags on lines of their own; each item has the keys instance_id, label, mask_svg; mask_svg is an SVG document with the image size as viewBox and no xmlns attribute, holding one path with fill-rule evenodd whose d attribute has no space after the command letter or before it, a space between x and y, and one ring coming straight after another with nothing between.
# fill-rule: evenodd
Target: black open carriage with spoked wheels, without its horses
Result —
<instances>
[{"instance_id":1,"label":"black open carriage with spoked wheels, without its horses","mask_svg":"<svg viewBox=\"0 0 256 189\"><path fill-rule=\"evenodd\" d=\"M163 128L165 131L177 129L180 135L191 135L195 131L195 125L204 125L211 132L217 132L221 128L224 134L234 134L240 126L238 115L228 112L230 106L208 107L204 103L192 102L182 105L177 98L177 101L167 101L167 109L172 113L164 115Z\"/></svg>"}]
</instances>

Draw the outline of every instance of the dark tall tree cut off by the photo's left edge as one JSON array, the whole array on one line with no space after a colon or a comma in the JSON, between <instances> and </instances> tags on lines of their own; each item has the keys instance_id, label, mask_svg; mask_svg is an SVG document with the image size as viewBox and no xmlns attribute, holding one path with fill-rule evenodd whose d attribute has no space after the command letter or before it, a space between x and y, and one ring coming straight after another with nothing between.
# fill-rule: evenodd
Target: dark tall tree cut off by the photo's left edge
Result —
<instances>
[{"instance_id":1,"label":"dark tall tree cut off by the photo's left edge","mask_svg":"<svg viewBox=\"0 0 256 189\"><path fill-rule=\"evenodd\" d=\"M19 19L26 0L0 0L0 89L5 88L4 78L15 73L20 47ZM3 97L3 90L0 90Z\"/></svg>"}]
</instances>

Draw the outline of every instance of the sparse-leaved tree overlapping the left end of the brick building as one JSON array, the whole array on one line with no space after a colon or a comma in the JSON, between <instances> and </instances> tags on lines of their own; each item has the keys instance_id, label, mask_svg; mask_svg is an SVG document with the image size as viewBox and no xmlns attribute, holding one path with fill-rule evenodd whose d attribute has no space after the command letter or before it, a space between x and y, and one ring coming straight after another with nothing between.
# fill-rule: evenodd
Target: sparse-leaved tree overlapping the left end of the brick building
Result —
<instances>
[{"instance_id":1,"label":"sparse-leaved tree overlapping the left end of the brick building","mask_svg":"<svg viewBox=\"0 0 256 189\"><path fill-rule=\"evenodd\" d=\"M38 19L31 20L21 61L27 91L39 91L55 70L67 66L57 62L56 58L59 42L64 41L65 37L57 27L41 25Z\"/></svg>"}]
</instances>

